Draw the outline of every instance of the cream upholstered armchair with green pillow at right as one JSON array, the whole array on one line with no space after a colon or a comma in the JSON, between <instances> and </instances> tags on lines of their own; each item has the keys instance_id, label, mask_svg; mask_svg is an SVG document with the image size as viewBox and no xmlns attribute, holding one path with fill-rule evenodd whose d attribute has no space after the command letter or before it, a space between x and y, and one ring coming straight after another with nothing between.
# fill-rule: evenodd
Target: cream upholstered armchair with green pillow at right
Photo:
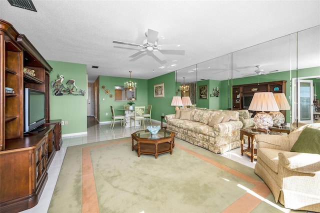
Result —
<instances>
[{"instance_id":1,"label":"cream upholstered armchair with green pillow at right","mask_svg":"<svg viewBox=\"0 0 320 213\"><path fill-rule=\"evenodd\" d=\"M313 128L313 133L306 132L310 130L306 127ZM320 154L297 152L301 144L302 149L311 145L310 137L314 136L313 142L320 145L320 123L303 125L288 135L254 137L257 142L254 172L270 188L275 201L286 208L320 212ZM300 142L302 137L306 141ZM307 151L317 152L318 147Z\"/></svg>"}]
</instances>

